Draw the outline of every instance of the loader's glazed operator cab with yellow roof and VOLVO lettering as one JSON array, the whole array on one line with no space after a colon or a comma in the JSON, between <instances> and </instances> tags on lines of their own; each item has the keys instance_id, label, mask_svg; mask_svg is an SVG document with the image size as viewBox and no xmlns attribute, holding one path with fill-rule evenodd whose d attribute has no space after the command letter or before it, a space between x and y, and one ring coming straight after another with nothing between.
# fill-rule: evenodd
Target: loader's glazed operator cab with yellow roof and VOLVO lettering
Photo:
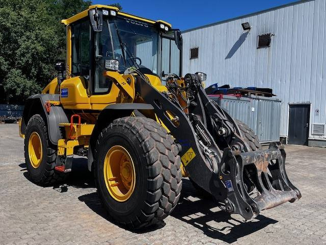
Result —
<instances>
[{"instance_id":1,"label":"loader's glazed operator cab with yellow roof and VOLVO lettering","mask_svg":"<svg viewBox=\"0 0 326 245\"><path fill-rule=\"evenodd\" d=\"M112 81L103 76L107 70L127 74L137 67L160 79L165 74L181 75L181 34L165 21L94 5L62 22L67 26L67 78L84 78L89 94L111 90Z\"/></svg>"}]
</instances>

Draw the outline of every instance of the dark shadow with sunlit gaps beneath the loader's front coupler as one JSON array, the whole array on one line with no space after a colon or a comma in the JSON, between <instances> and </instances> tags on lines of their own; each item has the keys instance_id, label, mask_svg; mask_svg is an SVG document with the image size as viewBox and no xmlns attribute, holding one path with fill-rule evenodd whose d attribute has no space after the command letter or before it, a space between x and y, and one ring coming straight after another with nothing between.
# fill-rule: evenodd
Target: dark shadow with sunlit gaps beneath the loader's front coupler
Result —
<instances>
[{"instance_id":1,"label":"dark shadow with sunlit gaps beneath the loader's front coupler","mask_svg":"<svg viewBox=\"0 0 326 245\"><path fill-rule=\"evenodd\" d=\"M232 243L240 237L278 222L263 215L258 215L247 222L240 215L232 215L238 216L238 219L231 217L229 213L216 207L216 203L212 199L191 198L192 200L189 200L190 196L194 196L196 190L187 179L183 179L182 184L183 195L171 216L202 230L211 238Z\"/></svg>"}]
</instances>

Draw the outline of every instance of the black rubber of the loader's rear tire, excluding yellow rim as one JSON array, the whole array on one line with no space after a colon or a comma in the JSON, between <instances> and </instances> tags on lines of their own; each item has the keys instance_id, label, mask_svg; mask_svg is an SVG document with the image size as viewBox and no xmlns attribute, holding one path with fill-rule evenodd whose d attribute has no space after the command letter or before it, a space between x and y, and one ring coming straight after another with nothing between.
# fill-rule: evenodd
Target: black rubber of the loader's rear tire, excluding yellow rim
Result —
<instances>
[{"instance_id":1,"label":"black rubber of the loader's rear tire, excluding yellow rim","mask_svg":"<svg viewBox=\"0 0 326 245\"><path fill-rule=\"evenodd\" d=\"M29 156L29 139L33 132L36 132L42 144L42 160L40 165L35 168L32 166ZM28 122L24 140L24 152L26 168L33 182L49 185L62 182L67 174L55 170L57 159L57 146L52 145L48 139L47 127L43 118L36 114Z\"/></svg>"}]
</instances>

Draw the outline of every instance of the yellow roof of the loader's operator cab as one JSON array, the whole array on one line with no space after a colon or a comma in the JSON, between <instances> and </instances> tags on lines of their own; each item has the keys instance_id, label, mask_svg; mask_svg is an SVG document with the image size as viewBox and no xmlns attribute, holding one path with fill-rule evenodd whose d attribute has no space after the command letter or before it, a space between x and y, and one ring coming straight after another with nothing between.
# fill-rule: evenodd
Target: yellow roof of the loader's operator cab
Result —
<instances>
[{"instance_id":1,"label":"yellow roof of the loader's operator cab","mask_svg":"<svg viewBox=\"0 0 326 245\"><path fill-rule=\"evenodd\" d=\"M115 10L117 11L117 14L118 15L121 15L121 16L125 16L125 17L129 17L129 18L132 18L132 19L138 19L138 20L141 20L141 21L145 21L145 22L148 22L148 23L151 23L151 24L155 24L155 23L164 23L166 24L167 26L169 26L170 28L172 28L172 25L164 20L151 20L151 19L146 19L146 18L142 18L142 17L139 17L139 16L135 16L135 15L131 15L131 14L127 14L127 13L123 13L123 12L120 12L119 9L117 7L114 7L114 6L108 6L108 5L91 5L88 9L84 10L83 12L80 12L68 19L63 19L61 20L61 23L65 24L65 25L68 25L68 24L71 24L79 19L82 19L86 16L88 16L88 11L90 9L95 9L95 8L98 8L98 9L109 9L109 10Z\"/></svg>"}]
</instances>

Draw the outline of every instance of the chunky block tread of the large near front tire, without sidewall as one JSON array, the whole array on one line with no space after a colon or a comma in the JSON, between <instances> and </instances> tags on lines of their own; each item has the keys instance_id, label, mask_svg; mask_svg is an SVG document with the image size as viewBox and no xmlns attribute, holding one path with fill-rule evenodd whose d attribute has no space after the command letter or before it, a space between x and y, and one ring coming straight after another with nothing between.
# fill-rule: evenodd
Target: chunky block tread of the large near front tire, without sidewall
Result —
<instances>
[{"instance_id":1,"label":"chunky block tread of the large near front tire, without sidewall","mask_svg":"<svg viewBox=\"0 0 326 245\"><path fill-rule=\"evenodd\" d=\"M139 216L135 216L126 225L140 228L158 223L174 210L180 198L182 174L177 146L171 135L156 121L146 117L123 117L114 120L99 134L94 149L95 162L100 145L116 127L127 129L138 139L148 170L144 208ZM115 221L124 225L119 220Z\"/></svg>"}]
</instances>

